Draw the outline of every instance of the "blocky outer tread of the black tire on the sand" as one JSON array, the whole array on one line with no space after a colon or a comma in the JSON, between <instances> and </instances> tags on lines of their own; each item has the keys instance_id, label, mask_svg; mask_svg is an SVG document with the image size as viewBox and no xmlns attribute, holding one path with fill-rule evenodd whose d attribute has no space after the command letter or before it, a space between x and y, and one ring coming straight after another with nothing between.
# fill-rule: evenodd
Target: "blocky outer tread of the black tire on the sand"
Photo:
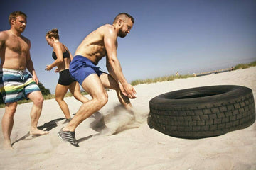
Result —
<instances>
[{"instance_id":1,"label":"blocky outer tread of the black tire on the sand","mask_svg":"<svg viewBox=\"0 0 256 170\"><path fill-rule=\"evenodd\" d=\"M149 126L166 135L198 138L223 135L247 128L255 122L255 101L252 93L231 101L173 108L150 104Z\"/></svg>"}]
</instances>

